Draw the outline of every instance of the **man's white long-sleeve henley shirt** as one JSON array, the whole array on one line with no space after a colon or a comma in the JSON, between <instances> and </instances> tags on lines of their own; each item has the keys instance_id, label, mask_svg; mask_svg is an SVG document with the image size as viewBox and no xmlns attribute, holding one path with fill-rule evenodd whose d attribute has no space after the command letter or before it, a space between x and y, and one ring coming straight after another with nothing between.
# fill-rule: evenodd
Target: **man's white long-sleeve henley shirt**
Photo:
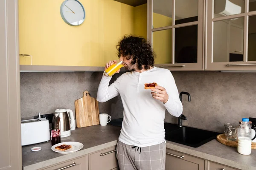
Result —
<instances>
[{"instance_id":1,"label":"man's white long-sleeve henley shirt","mask_svg":"<svg viewBox=\"0 0 256 170\"><path fill-rule=\"evenodd\" d=\"M97 100L106 102L120 94L124 108L122 129L119 141L146 147L165 142L165 111L173 116L180 116L183 107L171 72L164 68L151 68L142 73L132 71L122 74L113 84L111 77L102 77L99 84ZM156 82L166 88L168 101L163 104L145 90L144 83Z\"/></svg>"}]
</instances>

